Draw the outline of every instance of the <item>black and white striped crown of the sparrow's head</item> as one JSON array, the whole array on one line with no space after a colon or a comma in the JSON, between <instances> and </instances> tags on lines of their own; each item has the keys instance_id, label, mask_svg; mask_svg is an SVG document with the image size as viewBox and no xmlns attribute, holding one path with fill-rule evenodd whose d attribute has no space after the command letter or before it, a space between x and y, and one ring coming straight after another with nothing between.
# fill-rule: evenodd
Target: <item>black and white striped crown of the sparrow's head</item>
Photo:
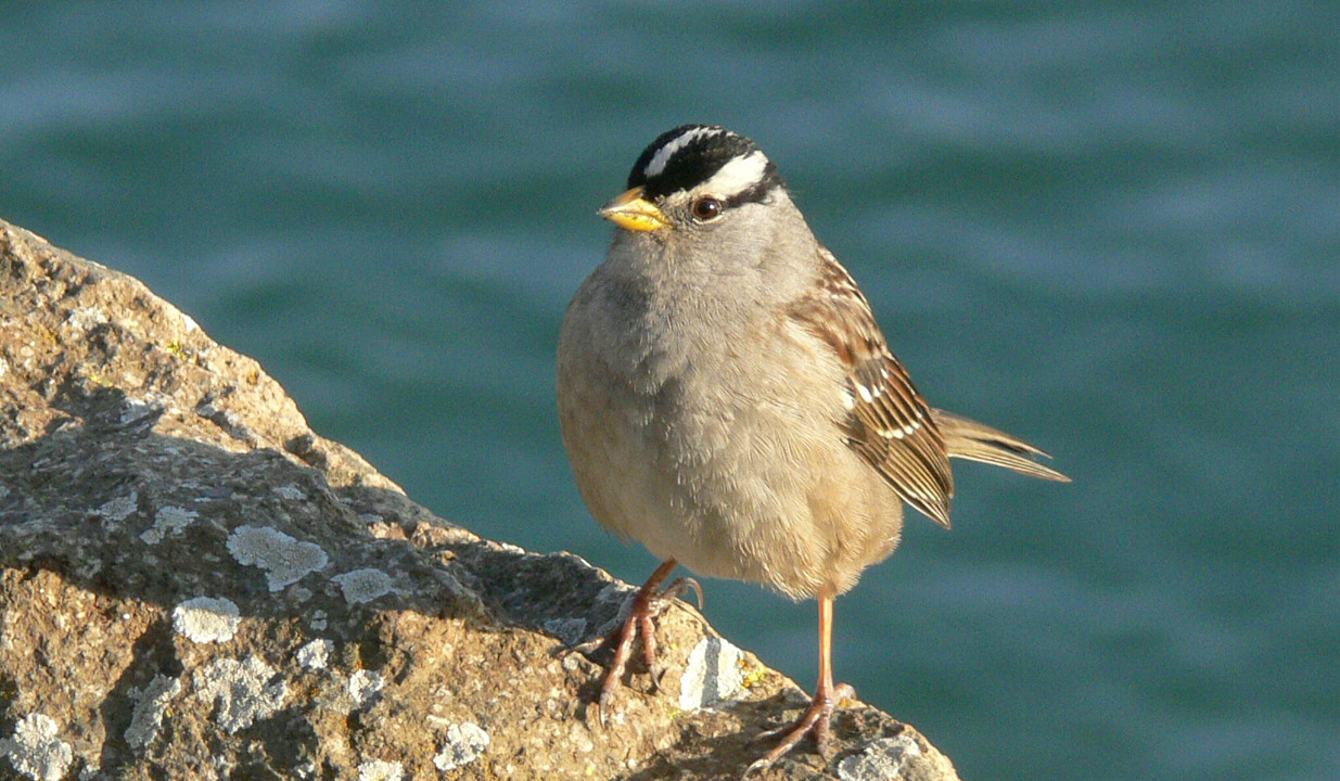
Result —
<instances>
[{"instance_id":1,"label":"black and white striped crown of the sparrow's head","mask_svg":"<svg viewBox=\"0 0 1340 781\"><path fill-rule=\"evenodd\" d=\"M649 198L701 185L733 204L760 201L785 186L754 142L720 125L681 125L657 137L632 163L628 188Z\"/></svg>"}]
</instances>

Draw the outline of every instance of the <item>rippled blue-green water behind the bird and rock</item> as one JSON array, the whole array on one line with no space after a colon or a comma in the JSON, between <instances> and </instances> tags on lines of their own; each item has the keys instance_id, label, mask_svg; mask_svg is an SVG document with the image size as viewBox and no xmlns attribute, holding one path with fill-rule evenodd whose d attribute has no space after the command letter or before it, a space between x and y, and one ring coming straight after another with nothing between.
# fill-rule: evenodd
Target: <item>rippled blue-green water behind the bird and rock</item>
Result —
<instances>
[{"instance_id":1,"label":"rippled blue-green water behind the bird and rock","mask_svg":"<svg viewBox=\"0 0 1340 781\"><path fill-rule=\"evenodd\" d=\"M937 406L1068 486L838 603L965 778L1340 777L1340 7L0 5L0 216L143 279L437 513L641 581L553 413L595 208L753 135ZM815 608L710 581L813 683Z\"/></svg>"}]
</instances>

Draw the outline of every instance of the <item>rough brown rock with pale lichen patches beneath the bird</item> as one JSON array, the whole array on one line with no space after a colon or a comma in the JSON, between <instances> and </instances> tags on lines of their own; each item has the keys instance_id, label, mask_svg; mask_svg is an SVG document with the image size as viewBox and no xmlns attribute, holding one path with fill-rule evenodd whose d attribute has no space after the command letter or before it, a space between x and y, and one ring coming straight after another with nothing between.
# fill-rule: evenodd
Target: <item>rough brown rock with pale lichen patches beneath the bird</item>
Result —
<instances>
[{"instance_id":1,"label":"rough brown rock with pale lichen patches beneath the bird","mask_svg":"<svg viewBox=\"0 0 1340 781\"><path fill-rule=\"evenodd\" d=\"M0 778L732 778L805 702L675 603L607 729L631 588L481 540L139 281L0 222ZM954 778L852 703L753 778Z\"/></svg>"}]
</instances>

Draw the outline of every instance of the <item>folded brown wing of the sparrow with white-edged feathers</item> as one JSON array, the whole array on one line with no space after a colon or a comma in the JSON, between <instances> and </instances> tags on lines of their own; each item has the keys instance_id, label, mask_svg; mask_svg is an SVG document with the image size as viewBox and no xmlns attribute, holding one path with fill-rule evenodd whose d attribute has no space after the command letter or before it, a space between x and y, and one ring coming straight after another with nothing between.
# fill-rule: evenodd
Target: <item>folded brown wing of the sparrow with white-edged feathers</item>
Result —
<instances>
[{"instance_id":1,"label":"folded brown wing of the sparrow with white-edged feathers","mask_svg":"<svg viewBox=\"0 0 1340 781\"><path fill-rule=\"evenodd\" d=\"M820 248L817 289L789 313L847 366L847 443L903 501L947 528L954 477L945 438L907 370L888 351L864 293L827 249Z\"/></svg>"}]
</instances>

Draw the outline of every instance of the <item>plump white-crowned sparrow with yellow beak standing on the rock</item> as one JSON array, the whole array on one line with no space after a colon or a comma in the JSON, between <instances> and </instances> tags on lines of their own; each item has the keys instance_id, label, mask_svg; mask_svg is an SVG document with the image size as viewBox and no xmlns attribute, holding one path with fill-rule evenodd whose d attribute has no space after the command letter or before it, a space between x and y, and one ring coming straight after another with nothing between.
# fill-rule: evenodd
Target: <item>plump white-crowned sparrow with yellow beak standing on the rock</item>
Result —
<instances>
[{"instance_id":1,"label":"plump white-crowned sparrow with yellow beak standing on the rock","mask_svg":"<svg viewBox=\"0 0 1340 781\"><path fill-rule=\"evenodd\" d=\"M663 564L611 636L610 697L683 564L819 600L819 686L756 765L833 705L832 600L898 544L903 502L949 526L949 458L1048 480L1041 450L931 409L851 275L815 238L777 169L724 127L663 133L600 216L618 228L559 336L563 442L591 514Z\"/></svg>"}]
</instances>

